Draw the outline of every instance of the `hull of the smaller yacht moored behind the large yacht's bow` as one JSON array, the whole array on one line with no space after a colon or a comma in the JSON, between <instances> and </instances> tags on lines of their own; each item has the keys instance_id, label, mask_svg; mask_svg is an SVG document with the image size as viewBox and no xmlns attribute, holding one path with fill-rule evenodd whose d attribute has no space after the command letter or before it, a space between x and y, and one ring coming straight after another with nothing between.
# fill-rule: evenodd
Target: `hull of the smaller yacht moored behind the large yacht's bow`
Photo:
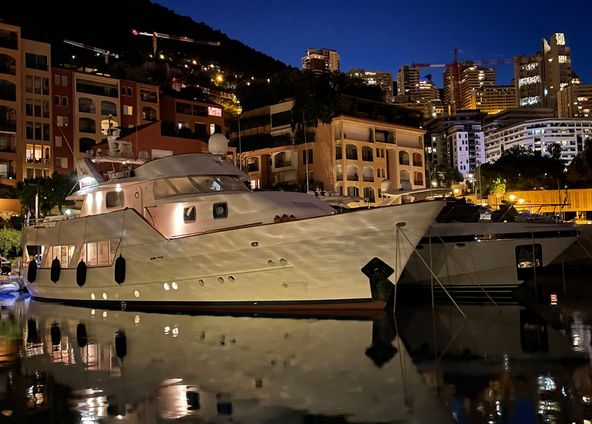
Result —
<instances>
[{"instance_id":1,"label":"hull of the smaller yacht moored behind the large yacht's bow","mask_svg":"<svg viewBox=\"0 0 592 424\"><path fill-rule=\"evenodd\" d=\"M437 286L433 274L455 289L513 289L520 276L517 249L540 249L537 268L549 265L576 241L567 224L443 223L430 227L418 244L401 282ZM431 237L430 237L431 236Z\"/></svg>"}]
</instances>

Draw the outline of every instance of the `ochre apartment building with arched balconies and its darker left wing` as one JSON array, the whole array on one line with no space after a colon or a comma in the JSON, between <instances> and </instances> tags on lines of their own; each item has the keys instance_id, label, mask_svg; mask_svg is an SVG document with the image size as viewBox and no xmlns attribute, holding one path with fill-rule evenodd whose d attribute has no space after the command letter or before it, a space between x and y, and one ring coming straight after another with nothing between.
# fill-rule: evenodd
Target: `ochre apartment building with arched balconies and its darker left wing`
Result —
<instances>
[{"instance_id":1,"label":"ochre apartment building with arched balconies and its darker left wing","mask_svg":"<svg viewBox=\"0 0 592 424\"><path fill-rule=\"evenodd\" d=\"M253 188L322 186L377 203L381 182L425 188L423 134L418 128L337 116L331 123L291 128L293 101L245 112L240 162ZM238 142L238 132L231 138Z\"/></svg>"}]
</instances>

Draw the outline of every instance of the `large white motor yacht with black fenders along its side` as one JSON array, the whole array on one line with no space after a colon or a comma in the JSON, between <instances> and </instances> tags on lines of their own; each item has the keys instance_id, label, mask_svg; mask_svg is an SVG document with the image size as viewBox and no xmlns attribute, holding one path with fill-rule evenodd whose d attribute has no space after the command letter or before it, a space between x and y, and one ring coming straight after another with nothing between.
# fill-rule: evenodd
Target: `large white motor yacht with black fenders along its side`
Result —
<instances>
[{"instance_id":1,"label":"large white motor yacht with black fenders along its side","mask_svg":"<svg viewBox=\"0 0 592 424\"><path fill-rule=\"evenodd\" d=\"M226 142L214 134L210 153L107 176L96 167L105 158L83 158L72 196L80 213L24 228L33 298L124 309L384 307L386 279L396 283L444 203L338 214L310 194L251 191L224 158Z\"/></svg>"}]
</instances>

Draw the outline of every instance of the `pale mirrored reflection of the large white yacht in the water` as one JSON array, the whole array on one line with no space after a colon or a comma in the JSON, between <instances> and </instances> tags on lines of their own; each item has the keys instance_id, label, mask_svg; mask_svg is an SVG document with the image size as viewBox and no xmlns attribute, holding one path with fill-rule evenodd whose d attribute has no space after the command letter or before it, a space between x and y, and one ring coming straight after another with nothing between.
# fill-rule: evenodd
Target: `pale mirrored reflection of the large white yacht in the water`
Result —
<instances>
[{"instance_id":1,"label":"pale mirrored reflection of the large white yacht in the water","mask_svg":"<svg viewBox=\"0 0 592 424\"><path fill-rule=\"evenodd\" d=\"M452 421L384 314L192 316L21 305L21 373L68 387L83 420Z\"/></svg>"}]
</instances>

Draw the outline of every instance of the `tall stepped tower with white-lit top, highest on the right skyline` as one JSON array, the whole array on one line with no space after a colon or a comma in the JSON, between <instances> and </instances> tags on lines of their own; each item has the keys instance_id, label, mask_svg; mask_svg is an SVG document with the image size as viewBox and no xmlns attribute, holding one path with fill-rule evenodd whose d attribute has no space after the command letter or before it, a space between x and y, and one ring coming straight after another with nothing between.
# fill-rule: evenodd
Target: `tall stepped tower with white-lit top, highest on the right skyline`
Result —
<instances>
[{"instance_id":1,"label":"tall stepped tower with white-lit top, highest on the right skyline","mask_svg":"<svg viewBox=\"0 0 592 424\"><path fill-rule=\"evenodd\" d=\"M520 107L557 108L559 91L575 78L571 69L571 50L565 35L555 33L542 40L541 51L514 58L516 102Z\"/></svg>"}]
</instances>

